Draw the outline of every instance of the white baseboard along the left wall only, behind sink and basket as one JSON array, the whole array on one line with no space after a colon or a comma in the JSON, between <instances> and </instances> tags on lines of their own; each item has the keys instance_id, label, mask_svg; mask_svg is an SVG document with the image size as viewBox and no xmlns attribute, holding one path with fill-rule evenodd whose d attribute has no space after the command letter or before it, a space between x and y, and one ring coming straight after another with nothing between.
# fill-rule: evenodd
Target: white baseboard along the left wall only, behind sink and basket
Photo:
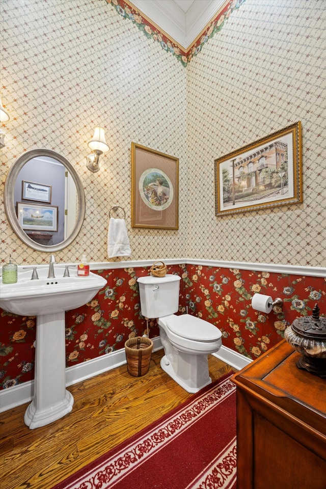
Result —
<instances>
[{"instance_id":1,"label":"white baseboard along the left wall only, behind sink and basket","mask_svg":"<svg viewBox=\"0 0 326 489\"><path fill-rule=\"evenodd\" d=\"M162 348L159 336L152 338L153 351ZM126 364L125 349L113 351L101 357L88 360L78 365L66 368L66 386L72 386L83 382L87 378L94 377L100 373L112 370L120 365ZM34 396L34 381L24 382L17 386L9 387L0 391L0 413L13 409L16 406L31 402Z\"/></svg>"}]
</instances>

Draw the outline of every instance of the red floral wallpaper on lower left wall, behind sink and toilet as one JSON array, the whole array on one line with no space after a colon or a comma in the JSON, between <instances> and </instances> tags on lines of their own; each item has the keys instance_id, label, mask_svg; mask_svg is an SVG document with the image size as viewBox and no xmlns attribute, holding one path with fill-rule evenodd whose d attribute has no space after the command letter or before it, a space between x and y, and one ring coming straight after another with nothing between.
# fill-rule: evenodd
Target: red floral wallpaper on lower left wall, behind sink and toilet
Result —
<instances>
[{"instance_id":1,"label":"red floral wallpaper on lower left wall, behind sink and toilet","mask_svg":"<svg viewBox=\"0 0 326 489\"><path fill-rule=\"evenodd\" d=\"M185 266L168 266L168 273L181 275ZM95 273L105 277L106 287L90 303L65 315L67 367L124 348L128 338L147 332L137 278L149 275L149 268L115 268ZM180 312L185 312L182 281L180 304ZM36 317L0 311L0 387L6 389L34 378ZM158 336L155 320L149 320L148 327L150 338Z\"/></svg>"}]
</instances>

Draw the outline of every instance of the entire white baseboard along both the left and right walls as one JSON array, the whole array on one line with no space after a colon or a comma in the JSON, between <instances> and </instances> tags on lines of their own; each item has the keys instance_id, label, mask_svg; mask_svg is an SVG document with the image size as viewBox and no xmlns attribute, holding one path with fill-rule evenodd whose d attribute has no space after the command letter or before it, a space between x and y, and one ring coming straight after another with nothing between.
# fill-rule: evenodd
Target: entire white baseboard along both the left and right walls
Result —
<instances>
[{"instance_id":1,"label":"entire white baseboard along both the left and right walls","mask_svg":"<svg viewBox=\"0 0 326 489\"><path fill-rule=\"evenodd\" d=\"M152 341L154 344L153 351L162 348L159 336L153 338ZM231 348L223 345L217 353L213 353L213 356L223 360L223 362L237 370L241 370L241 368L252 362L251 359L244 357L237 351L231 350ZM112 370L126 363L125 349L121 348L120 350L113 351L107 355L102 355L101 357L88 360L87 362L67 367L66 386L68 387L77 384L78 382L83 382L87 378L94 377L95 375ZM25 404L26 402L31 402L33 395L34 381L24 382L23 384L3 389L0 391L0 413L13 409L21 404Z\"/></svg>"}]
</instances>

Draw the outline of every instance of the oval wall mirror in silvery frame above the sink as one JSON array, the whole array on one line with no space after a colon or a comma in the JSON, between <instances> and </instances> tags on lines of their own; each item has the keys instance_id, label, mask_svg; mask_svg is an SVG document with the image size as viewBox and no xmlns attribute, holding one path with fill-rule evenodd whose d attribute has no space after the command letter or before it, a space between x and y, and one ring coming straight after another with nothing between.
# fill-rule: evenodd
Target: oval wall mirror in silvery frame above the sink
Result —
<instances>
[{"instance_id":1,"label":"oval wall mirror in silvery frame above the sink","mask_svg":"<svg viewBox=\"0 0 326 489\"><path fill-rule=\"evenodd\" d=\"M30 248L63 250L85 219L85 193L70 161L49 149L19 156L5 182L5 210L16 235Z\"/></svg>"}]
</instances>

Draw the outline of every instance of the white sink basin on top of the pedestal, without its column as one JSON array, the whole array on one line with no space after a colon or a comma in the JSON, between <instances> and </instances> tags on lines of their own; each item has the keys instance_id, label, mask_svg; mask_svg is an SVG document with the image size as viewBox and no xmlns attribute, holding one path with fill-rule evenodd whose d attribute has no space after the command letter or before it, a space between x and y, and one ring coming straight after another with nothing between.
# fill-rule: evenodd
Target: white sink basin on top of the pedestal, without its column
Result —
<instances>
[{"instance_id":1,"label":"white sink basin on top of the pedestal, without its column","mask_svg":"<svg viewBox=\"0 0 326 489\"><path fill-rule=\"evenodd\" d=\"M83 306L106 284L93 273L77 277L77 270L70 268L70 277L64 277L65 266L54 269L56 278L48 279L48 266L38 267L38 280L31 280L32 270L19 270L17 283L0 285L0 307L21 316L64 312Z\"/></svg>"}]
</instances>

